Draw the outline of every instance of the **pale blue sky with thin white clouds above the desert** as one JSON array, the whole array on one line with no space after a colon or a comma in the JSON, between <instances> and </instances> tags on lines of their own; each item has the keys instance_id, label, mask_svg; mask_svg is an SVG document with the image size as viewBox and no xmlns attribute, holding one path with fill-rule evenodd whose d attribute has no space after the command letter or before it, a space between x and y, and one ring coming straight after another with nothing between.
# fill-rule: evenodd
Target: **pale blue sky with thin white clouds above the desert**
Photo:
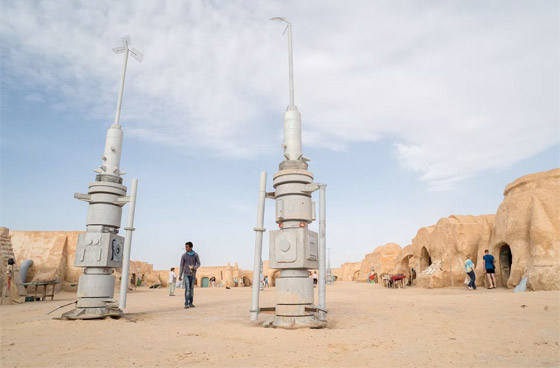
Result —
<instances>
[{"instance_id":1,"label":"pale blue sky with thin white clouds above the desert","mask_svg":"<svg viewBox=\"0 0 560 368\"><path fill-rule=\"evenodd\" d=\"M129 60L120 118L124 184L139 180L132 259L167 269L192 241L203 266L252 269L260 172L273 191L289 103L277 16L293 25L332 267L452 214L496 213L508 183L560 166L557 1L0 6L0 225L12 230L85 230L73 195L101 165L122 70L112 48L130 35L144 54ZM277 228L272 200L265 227Z\"/></svg>"}]
</instances>

